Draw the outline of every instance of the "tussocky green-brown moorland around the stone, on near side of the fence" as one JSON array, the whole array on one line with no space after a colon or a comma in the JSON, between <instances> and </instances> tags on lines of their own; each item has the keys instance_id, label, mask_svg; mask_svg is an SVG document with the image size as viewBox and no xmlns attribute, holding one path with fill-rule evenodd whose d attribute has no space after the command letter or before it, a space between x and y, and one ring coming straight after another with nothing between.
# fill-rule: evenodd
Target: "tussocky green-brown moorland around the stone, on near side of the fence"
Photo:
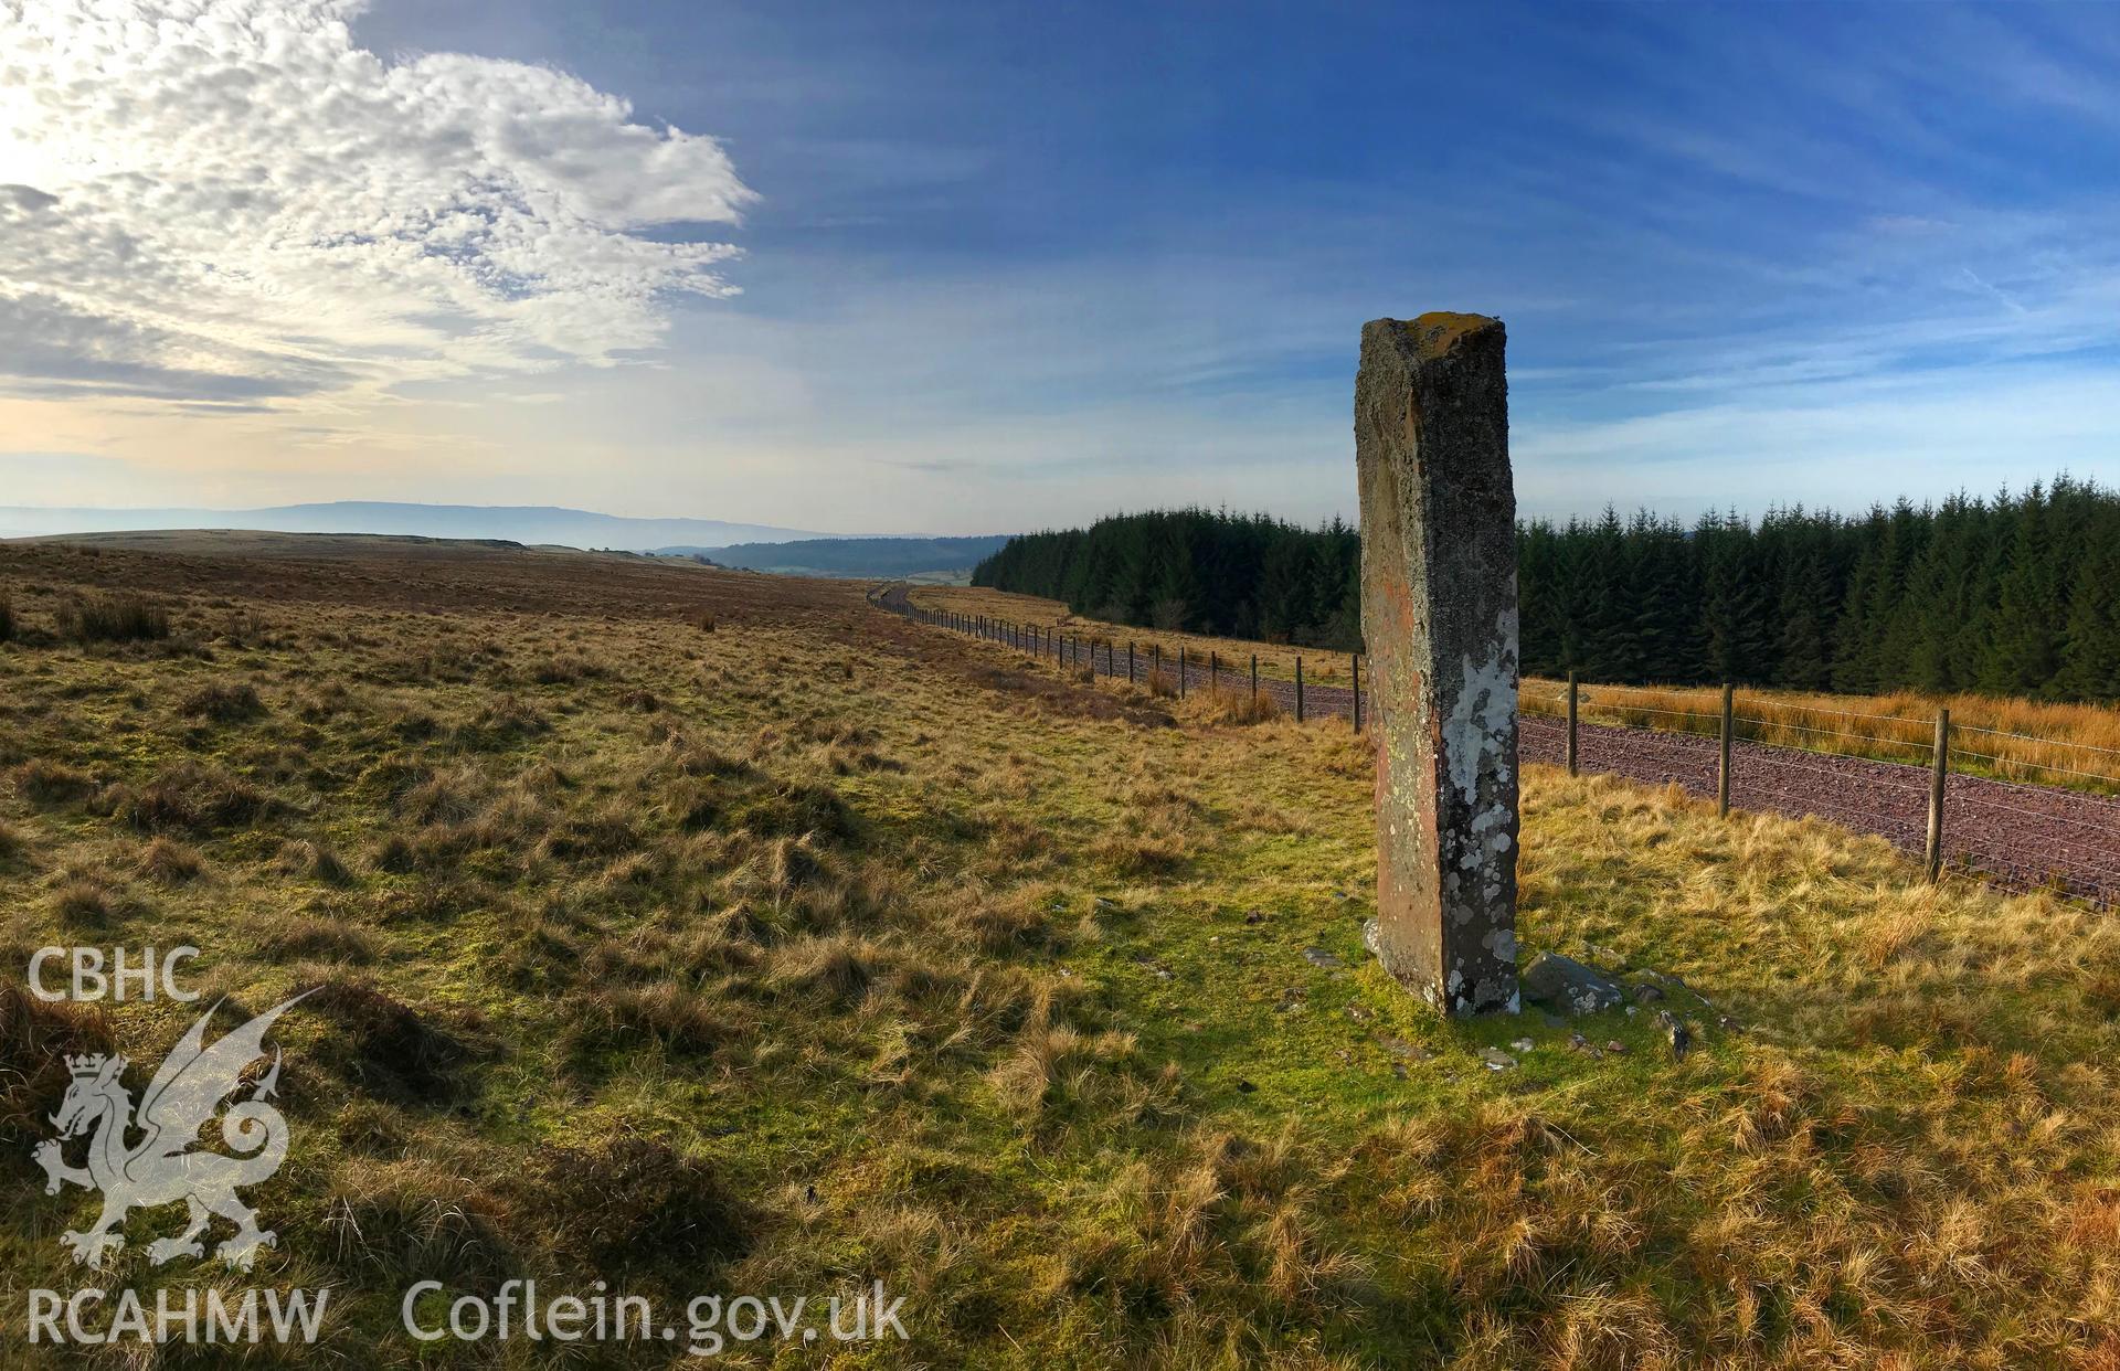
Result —
<instances>
[{"instance_id":1,"label":"tussocky green-brown moorland around the stone, on near side of the fence","mask_svg":"<svg viewBox=\"0 0 2120 1371\"><path fill-rule=\"evenodd\" d=\"M617 557L0 547L0 587L11 1335L91 1216L28 1161L51 1055L155 1064L191 1017L19 971L189 941L248 1011L324 987L276 1030L280 1246L151 1267L142 1212L104 1284L331 1284L343 1365L553 1358L399 1333L413 1280L519 1274L882 1280L912 1341L840 1365L2120 1360L2112 920L1535 767L1522 943L1704 996L1683 1062L1649 1013L1584 1051L1363 960L1333 720ZM723 1360L776 1356L827 1352Z\"/></svg>"}]
</instances>

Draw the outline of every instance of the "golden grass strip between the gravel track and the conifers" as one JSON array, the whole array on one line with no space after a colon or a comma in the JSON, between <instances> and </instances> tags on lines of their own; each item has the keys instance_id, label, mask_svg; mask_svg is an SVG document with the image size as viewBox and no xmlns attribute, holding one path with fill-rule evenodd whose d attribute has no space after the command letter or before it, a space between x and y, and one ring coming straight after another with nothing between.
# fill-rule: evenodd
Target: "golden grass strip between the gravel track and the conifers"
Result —
<instances>
[{"instance_id":1,"label":"golden grass strip between the gravel track and the conifers","mask_svg":"<svg viewBox=\"0 0 2120 1371\"><path fill-rule=\"evenodd\" d=\"M1242 638L1204 638L1111 625L1073 615L1058 600L1011 595L971 587L920 587L912 602L965 615L988 615L1011 623L1035 623L1098 642L1162 644L1177 657L1183 644L1200 661L1217 653L1223 663L1249 667L1259 657L1259 674L1289 680L1295 659L1314 684L1346 687L1346 653L1321 653ZM1565 714L1567 682L1524 678L1524 710ZM2035 786L2073 786L2120 793L2120 708L2097 704L2048 704L1993 695L1827 695L1813 691L1738 691L1741 731L1747 740L1813 752L1842 752L1927 765L1936 737L1936 710L1950 708L1955 729L1953 767ZM1721 718L1719 687L1609 687L1582 689L1582 718L1628 727L1715 733Z\"/></svg>"}]
</instances>

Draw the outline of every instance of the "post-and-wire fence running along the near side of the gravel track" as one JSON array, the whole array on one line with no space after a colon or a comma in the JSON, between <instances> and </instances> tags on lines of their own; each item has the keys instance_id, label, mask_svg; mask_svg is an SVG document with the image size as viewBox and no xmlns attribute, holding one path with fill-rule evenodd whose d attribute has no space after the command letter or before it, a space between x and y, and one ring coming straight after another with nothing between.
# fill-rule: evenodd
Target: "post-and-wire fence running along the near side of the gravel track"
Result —
<instances>
[{"instance_id":1,"label":"post-and-wire fence running along the near side of the gravel track","mask_svg":"<svg viewBox=\"0 0 2120 1371\"><path fill-rule=\"evenodd\" d=\"M1128 680L1177 697L1232 691L1270 697L1295 720L1338 716L1363 729L1376 701L1361 657L1344 657L1346 687L1261 676L1259 657L1166 653L1105 634L912 604L905 587L869 600L916 623L1052 661L1060 670ZM1338 663L1336 663L1338 665ZM1338 672L1336 672L1338 674ZM1677 708L1671 691L1526 682L1518 697L1524 761L1677 784L1732 809L1817 816L1874 833L1919 858L1931 879L1972 877L2008 890L2048 890L2099 907L2120 903L2120 750L1936 718L1832 710L1726 687L1719 710ZM1965 746L1959 735L1984 746ZM2037 754L2010 752L2012 740ZM2107 790L2107 793L2099 793Z\"/></svg>"}]
</instances>

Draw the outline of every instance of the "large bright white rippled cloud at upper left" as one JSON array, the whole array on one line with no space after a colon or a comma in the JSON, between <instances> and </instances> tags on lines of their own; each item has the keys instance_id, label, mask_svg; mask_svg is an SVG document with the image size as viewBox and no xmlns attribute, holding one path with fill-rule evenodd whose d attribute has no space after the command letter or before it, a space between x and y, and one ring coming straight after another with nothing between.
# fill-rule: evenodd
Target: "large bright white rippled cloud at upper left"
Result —
<instances>
[{"instance_id":1,"label":"large bright white rippled cloud at upper left","mask_svg":"<svg viewBox=\"0 0 2120 1371\"><path fill-rule=\"evenodd\" d=\"M712 138L360 0L0 0L0 386L259 405L606 364L727 295Z\"/></svg>"}]
</instances>

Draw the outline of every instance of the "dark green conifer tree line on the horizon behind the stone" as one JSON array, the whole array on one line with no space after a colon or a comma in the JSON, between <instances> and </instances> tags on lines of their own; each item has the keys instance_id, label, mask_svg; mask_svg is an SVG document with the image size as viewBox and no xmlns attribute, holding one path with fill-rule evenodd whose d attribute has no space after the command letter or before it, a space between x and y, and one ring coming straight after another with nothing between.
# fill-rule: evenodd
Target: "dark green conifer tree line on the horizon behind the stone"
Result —
<instances>
[{"instance_id":1,"label":"dark green conifer tree line on the horizon behind the stone","mask_svg":"<svg viewBox=\"0 0 2120 1371\"><path fill-rule=\"evenodd\" d=\"M2120 699L2120 494L1518 526L1522 667L1601 682ZM1022 534L973 585L1160 629L1361 651L1344 521L1151 511Z\"/></svg>"}]
</instances>

